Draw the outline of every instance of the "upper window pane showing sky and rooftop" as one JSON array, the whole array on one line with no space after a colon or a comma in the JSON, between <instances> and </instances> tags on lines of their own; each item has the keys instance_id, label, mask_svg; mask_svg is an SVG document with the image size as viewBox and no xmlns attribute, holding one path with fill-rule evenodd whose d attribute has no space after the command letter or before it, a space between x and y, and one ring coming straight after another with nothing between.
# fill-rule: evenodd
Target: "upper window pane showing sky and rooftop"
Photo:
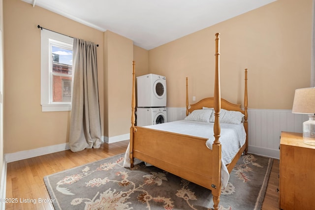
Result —
<instances>
[{"instance_id":1,"label":"upper window pane showing sky and rooftop","mask_svg":"<svg viewBox=\"0 0 315 210\"><path fill-rule=\"evenodd\" d=\"M52 45L53 72L72 75L72 50Z\"/></svg>"}]
</instances>

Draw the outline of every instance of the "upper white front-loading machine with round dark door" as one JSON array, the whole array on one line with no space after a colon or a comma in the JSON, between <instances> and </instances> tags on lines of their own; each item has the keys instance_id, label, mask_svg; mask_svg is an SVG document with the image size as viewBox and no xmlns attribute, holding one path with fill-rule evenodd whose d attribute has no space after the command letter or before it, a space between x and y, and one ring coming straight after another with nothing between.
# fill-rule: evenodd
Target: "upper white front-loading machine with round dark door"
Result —
<instances>
[{"instance_id":1,"label":"upper white front-loading machine with round dark door","mask_svg":"<svg viewBox=\"0 0 315 210\"><path fill-rule=\"evenodd\" d=\"M137 107L166 107L166 78L157 74L137 77Z\"/></svg>"}]
</instances>

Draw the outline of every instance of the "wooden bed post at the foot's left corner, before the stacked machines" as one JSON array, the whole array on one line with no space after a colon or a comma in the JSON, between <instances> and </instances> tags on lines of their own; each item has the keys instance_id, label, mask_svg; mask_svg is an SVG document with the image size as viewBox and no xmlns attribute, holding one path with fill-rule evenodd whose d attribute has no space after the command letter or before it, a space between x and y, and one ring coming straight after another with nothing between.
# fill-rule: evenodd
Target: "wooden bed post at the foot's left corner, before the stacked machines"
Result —
<instances>
[{"instance_id":1,"label":"wooden bed post at the foot's left corner, before the stacked machines","mask_svg":"<svg viewBox=\"0 0 315 210\"><path fill-rule=\"evenodd\" d=\"M130 127L130 167L133 167L133 133L136 131L134 126L135 117L135 107L136 107L136 95L135 95L135 61L132 61L132 96L131 96L131 127Z\"/></svg>"}]
</instances>

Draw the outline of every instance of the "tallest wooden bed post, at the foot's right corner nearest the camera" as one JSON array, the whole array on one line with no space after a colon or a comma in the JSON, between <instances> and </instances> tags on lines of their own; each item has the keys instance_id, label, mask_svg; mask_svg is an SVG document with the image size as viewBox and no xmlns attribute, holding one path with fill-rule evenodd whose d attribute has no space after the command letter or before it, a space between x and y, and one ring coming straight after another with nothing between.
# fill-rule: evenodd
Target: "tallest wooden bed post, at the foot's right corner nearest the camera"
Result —
<instances>
[{"instance_id":1,"label":"tallest wooden bed post, at the foot's right corner nearest the camera","mask_svg":"<svg viewBox=\"0 0 315 210\"><path fill-rule=\"evenodd\" d=\"M213 127L215 141L212 145L212 195L214 210L219 210L220 194L221 194L221 143L219 141L220 127L220 110L221 110L221 90L220 90L220 33L216 33L216 73L215 73L215 92L214 92L214 110L215 123Z\"/></svg>"}]
</instances>

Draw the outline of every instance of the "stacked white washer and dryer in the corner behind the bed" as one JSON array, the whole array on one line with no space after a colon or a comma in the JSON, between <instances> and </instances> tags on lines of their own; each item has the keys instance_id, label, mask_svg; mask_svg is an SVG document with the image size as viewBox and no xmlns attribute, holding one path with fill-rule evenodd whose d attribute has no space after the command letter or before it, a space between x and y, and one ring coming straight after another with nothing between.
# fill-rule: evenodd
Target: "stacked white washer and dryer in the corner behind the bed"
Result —
<instances>
[{"instance_id":1,"label":"stacked white washer and dryer in the corner behind the bed","mask_svg":"<svg viewBox=\"0 0 315 210\"><path fill-rule=\"evenodd\" d=\"M137 126L167 122L166 78L157 74L137 77Z\"/></svg>"}]
</instances>

